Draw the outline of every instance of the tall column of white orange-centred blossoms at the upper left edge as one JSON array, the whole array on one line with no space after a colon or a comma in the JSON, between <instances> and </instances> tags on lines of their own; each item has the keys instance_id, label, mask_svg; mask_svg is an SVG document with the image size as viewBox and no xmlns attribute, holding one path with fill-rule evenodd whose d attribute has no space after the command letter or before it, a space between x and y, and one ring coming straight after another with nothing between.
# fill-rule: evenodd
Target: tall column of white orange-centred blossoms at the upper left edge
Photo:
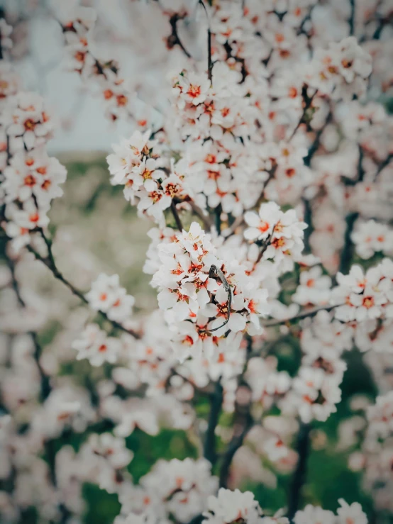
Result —
<instances>
[{"instance_id":1,"label":"tall column of white orange-centred blossoms at the upper left edge","mask_svg":"<svg viewBox=\"0 0 393 524\"><path fill-rule=\"evenodd\" d=\"M1 225L18 252L31 243L31 233L47 227L51 201L62 196L67 170L45 150L53 124L41 96L21 91L9 62L1 62L0 80Z\"/></svg>"}]
</instances>

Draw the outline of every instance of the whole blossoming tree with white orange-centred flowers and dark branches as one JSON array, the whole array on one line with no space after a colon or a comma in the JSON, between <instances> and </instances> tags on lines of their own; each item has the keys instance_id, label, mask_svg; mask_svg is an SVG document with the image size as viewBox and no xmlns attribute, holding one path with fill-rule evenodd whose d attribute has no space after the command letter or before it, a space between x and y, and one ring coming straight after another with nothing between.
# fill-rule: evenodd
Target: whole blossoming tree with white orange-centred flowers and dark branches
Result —
<instances>
[{"instance_id":1,"label":"whole blossoming tree with white orange-centred flowers and dark branches","mask_svg":"<svg viewBox=\"0 0 393 524\"><path fill-rule=\"evenodd\" d=\"M107 184L151 223L153 311L118 274L84 289L85 268L59 269L71 254L57 259L64 239L48 213L67 172L46 150L52 114L13 67L6 12L0 21L1 522L28 522L29 508L36 522L82 522L89 483L120 501L116 524L367 523L358 502L304 507L302 490L353 347L379 396L353 402L341 444L372 515L392 515L392 3L128 4L148 20L155 82L97 54L94 9L64 2L50 16L70 74L128 125ZM51 338L55 299L28 285L41 270L71 292ZM293 369L277 355L283 340ZM133 479L130 435L165 428L193 451ZM278 513L239 489L278 473L290 479Z\"/></svg>"}]
</instances>

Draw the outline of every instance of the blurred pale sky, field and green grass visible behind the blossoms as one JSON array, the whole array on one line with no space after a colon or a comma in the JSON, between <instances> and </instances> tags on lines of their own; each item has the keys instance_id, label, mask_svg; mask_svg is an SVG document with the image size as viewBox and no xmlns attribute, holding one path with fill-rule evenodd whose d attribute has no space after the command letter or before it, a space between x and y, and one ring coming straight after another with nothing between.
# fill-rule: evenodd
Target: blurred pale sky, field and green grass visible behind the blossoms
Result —
<instances>
[{"instance_id":1,"label":"blurred pale sky, field and green grass visible behind the blossoms","mask_svg":"<svg viewBox=\"0 0 393 524\"><path fill-rule=\"evenodd\" d=\"M65 195L52 205L50 232L56 238L54 252L60 269L66 276L72 276L80 289L88 289L99 272L118 273L122 285L135 296L137 313L155 308L155 291L149 286L150 277L142 270L150 242L146 233L151 224L136 216L135 209L124 200L120 186L109 184L106 168L105 157L111 143L117 143L121 136L130 135L131 126L125 121L110 123L102 110L101 99L91 94L77 74L65 70L62 35L60 27L51 18L53 7L50 2L8 0L1 4L7 9L9 23L13 23L16 34L21 35L21 38L16 38L18 45L13 49L16 70L21 74L26 89L45 96L58 121L49 152L67 167L68 178ZM140 90L138 84L143 71L151 71L153 62L157 63L155 76L144 77L146 89L143 96L148 97L148 87L153 88L157 82L162 82L172 65L176 63L178 67L181 53L174 52L169 57L167 53L162 57L146 53L152 49L157 52L159 47L155 45L155 38L159 39L160 35L157 35L157 28L155 34L149 31L143 3L136 9L138 16L135 16L135 9L131 16L131 11L125 9L121 0L96 0L94 7L99 11L101 21L96 38L104 49L101 52L116 55L124 76L135 82L135 91ZM140 57L129 54L131 40L133 45L139 44L145 51ZM161 102L158 100L157 104ZM389 100L386 106L389 108ZM73 323L75 332L83 325L85 313L76 306L68 291L48 275L45 267L38 262L29 263L33 269L29 276L29 272L23 272L21 268L21 283L23 279L31 279L32 292L45 296L47 307L52 308L51 321L40 332L40 342L45 347L44 357L46 355L49 361L51 352L63 352L62 372L77 374L81 383L96 379L100 374L105 376L105 368L92 369L87 362L70 363L67 360L72 350L67 341L59 340L65 311L72 312L67 313L70 315L67 322L69 325ZM297 338L293 335L284 338L275 346L275 355L279 360L278 369L294 375L300 360ZM355 351L346 353L344 358L348 361L349 371L343 380L343 398L338 411L328 418L327 423L316 423L312 432L304 499L332 510L336 510L338 498L345 498L348 503L358 501L372 522L372 503L362 491L360 476L348 470L348 458L354 450L354 424L347 425L346 422L353 419L357 405L365 406L375 398L376 388L370 371L373 363L367 362L366 357L365 361L371 366L366 367ZM209 406L201 399L196 409L201 415L207 415ZM223 415L221 425L225 424ZM359 432L362 429L360 425ZM77 450L81 439L81 435L65 433L57 445L60 449L62 445L70 444ZM137 429L128 437L127 445L135 452L129 466L135 481L149 471L157 458L183 459L198 455L192 434L182 431L164 430L151 437ZM269 464L264 464L264 467L262 479L240 481L240 485L254 491L262 508L276 510L287 503L291 475L284 471L272 474ZM89 484L84 488L84 496L87 500L86 523L110 524L118 514L120 506L116 496ZM35 523L33 510L26 512L25 522Z\"/></svg>"}]
</instances>

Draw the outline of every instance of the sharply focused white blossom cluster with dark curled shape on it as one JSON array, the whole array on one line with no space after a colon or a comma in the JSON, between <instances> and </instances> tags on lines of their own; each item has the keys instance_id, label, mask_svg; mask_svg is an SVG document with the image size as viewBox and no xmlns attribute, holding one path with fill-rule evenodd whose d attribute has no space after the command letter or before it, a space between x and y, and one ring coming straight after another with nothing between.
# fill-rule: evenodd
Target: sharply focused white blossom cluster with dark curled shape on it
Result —
<instances>
[{"instance_id":1,"label":"sharply focused white blossom cluster with dark curled shape on it","mask_svg":"<svg viewBox=\"0 0 393 524\"><path fill-rule=\"evenodd\" d=\"M269 311L267 290L253 289L245 267L219 259L210 235L198 223L176 235L174 242L161 243L158 255L161 264L152 282L161 289L160 308L169 310L180 359L202 352L216 357L227 331L258 333L259 317ZM233 336L230 340L235 342Z\"/></svg>"}]
</instances>

